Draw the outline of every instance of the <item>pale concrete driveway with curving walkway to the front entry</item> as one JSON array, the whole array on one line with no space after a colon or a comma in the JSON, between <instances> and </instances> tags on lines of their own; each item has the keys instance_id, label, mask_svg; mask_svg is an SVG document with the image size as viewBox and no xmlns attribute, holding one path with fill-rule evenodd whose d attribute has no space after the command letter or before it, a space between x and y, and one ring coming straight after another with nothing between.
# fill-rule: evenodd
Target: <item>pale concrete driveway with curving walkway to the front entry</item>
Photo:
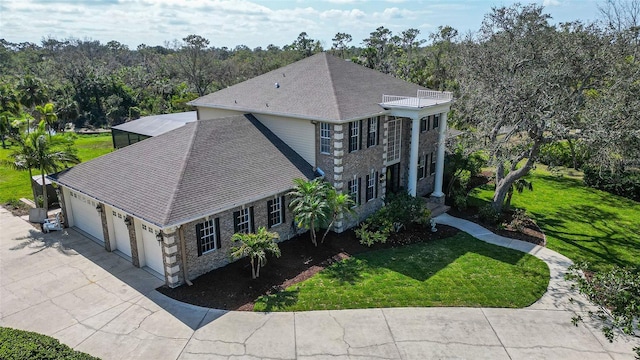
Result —
<instances>
[{"instance_id":1,"label":"pale concrete driveway with curving walkway to the front entry","mask_svg":"<svg viewBox=\"0 0 640 360\"><path fill-rule=\"evenodd\" d=\"M525 309L206 309L161 295L160 280L73 229L42 234L0 208L0 326L105 360L633 359L637 339L611 344L594 324L571 324L590 306L563 279L569 259L448 215L437 221L541 258L547 293Z\"/></svg>"}]
</instances>

